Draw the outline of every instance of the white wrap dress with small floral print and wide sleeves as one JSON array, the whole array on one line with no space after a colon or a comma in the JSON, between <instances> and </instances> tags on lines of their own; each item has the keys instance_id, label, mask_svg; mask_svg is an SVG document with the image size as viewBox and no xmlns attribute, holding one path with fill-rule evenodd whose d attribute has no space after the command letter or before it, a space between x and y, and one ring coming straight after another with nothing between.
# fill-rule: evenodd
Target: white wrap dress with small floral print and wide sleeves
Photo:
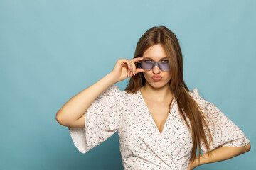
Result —
<instances>
[{"instance_id":1,"label":"white wrap dress with small floral print and wide sleeves","mask_svg":"<svg viewBox=\"0 0 256 170\"><path fill-rule=\"evenodd\" d=\"M242 147L250 142L213 103L199 96L198 89L189 94L215 123L208 125L214 134L211 150L220 146ZM88 152L118 131L124 169L188 169L192 137L179 115L175 98L162 133L140 91L128 94L112 85L95 99L85 115L85 128L68 128L80 152ZM203 142L201 149L206 153Z\"/></svg>"}]
</instances>

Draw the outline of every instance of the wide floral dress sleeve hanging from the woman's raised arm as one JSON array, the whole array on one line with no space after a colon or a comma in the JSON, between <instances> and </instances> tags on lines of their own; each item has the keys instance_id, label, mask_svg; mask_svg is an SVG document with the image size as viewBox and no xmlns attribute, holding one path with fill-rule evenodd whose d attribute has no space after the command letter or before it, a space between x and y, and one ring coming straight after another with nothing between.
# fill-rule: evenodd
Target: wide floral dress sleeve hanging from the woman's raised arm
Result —
<instances>
[{"instance_id":1,"label":"wide floral dress sleeve hanging from the woman's raised arm","mask_svg":"<svg viewBox=\"0 0 256 170\"><path fill-rule=\"evenodd\" d=\"M117 132L121 124L122 91L112 85L87 108L85 128L68 129L75 147L86 153Z\"/></svg>"}]
</instances>

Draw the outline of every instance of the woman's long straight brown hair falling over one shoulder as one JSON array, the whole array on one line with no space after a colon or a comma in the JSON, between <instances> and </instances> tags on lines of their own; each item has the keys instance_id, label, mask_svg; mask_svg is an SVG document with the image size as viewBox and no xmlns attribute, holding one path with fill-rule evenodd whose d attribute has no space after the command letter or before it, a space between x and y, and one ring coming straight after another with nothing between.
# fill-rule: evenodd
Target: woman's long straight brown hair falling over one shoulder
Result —
<instances>
[{"instance_id":1,"label":"woman's long straight brown hair falling over one shoulder","mask_svg":"<svg viewBox=\"0 0 256 170\"><path fill-rule=\"evenodd\" d=\"M203 143L206 145L208 154L211 154L209 145L213 139L210 135L210 141L208 143L203 126L206 126L208 134L210 134L210 130L206 124L205 117L196 101L193 100L190 94L188 94L189 89L183 80L183 59L181 47L178 43L176 35L174 35L174 33L165 26L154 26L150 28L146 31L146 33L144 33L144 35L142 35L141 38L139 38L134 58L142 57L144 52L149 47L159 43L163 45L164 50L166 51L171 68L171 80L169 83L171 94L173 94L174 98L176 98L181 117L183 120L185 120L186 126L188 127L188 130L190 130L193 137L193 147L190 159L193 162L196 159L196 149L198 149L200 158L201 141L203 141ZM127 93L136 93L141 86L145 85L145 83L146 79L144 78L143 74L142 77L140 77L139 74L136 74L129 80L125 91L127 91ZM170 107L171 103L169 105L169 111ZM189 119L191 127L188 124L186 117Z\"/></svg>"}]
</instances>

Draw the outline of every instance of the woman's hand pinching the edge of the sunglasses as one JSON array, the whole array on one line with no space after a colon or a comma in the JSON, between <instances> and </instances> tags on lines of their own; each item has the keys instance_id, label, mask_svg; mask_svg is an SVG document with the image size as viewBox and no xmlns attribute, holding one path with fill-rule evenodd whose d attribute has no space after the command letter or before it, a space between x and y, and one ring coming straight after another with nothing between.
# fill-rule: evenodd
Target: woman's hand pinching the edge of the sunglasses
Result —
<instances>
[{"instance_id":1,"label":"woman's hand pinching the edge of the sunglasses","mask_svg":"<svg viewBox=\"0 0 256 170\"><path fill-rule=\"evenodd\" d=\"M135 66L135 62L143 59L143 57L137 57L131 60L118 59L117 63L114 65L114 69L112 69L112 74L114 74L115 81L119 82L127 79L128 77L132 77L132 75L135 75L139 72L145 72L144 69L136 68Z\"/></svg>"}]
</instances>

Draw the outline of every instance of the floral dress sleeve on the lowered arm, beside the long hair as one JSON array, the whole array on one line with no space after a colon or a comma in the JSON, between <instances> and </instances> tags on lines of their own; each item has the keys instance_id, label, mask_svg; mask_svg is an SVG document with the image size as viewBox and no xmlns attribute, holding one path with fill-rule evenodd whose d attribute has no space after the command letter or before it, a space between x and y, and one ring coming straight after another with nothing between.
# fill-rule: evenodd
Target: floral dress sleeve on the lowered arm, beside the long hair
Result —
<instances>
[{"instance_id":1,"label":"floral dress sleeve on the lowered arm, beside the long hair","mask_svg":"<svg viewBox=\"0 0 256 170\"><path fill-rule=\"evenodd\" d=\"M191 91L191 96L194 98L201 111L206 116L206 123L210 128L210 133L213 136L213 142L210 143L210 150L217 147L243 147L250 143L246 135L233 123L224 113L220 111L213 103L204 100L199 96L198 89ZM206 138L209 141L209 135L206 131ZM203 153L207 152L206 146L201 142Z\"/></svg>"}]
</instances>

